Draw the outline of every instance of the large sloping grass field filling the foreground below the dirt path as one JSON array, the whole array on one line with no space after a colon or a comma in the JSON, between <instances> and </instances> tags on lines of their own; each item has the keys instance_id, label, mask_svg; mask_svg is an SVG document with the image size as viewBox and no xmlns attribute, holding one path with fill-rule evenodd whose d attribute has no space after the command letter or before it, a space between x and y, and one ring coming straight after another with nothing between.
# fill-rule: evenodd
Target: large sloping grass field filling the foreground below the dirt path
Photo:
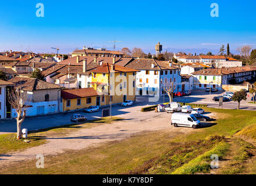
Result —
<instances>
[{"instance_id":1,"label":"large sloping grass field filling the foreground below the dirt path","mask_svg":"<svg viewBox=\"0 0 256 186\"><path fill-rule=\"evenodd\" d=\"M109 142L95 148L47 156L44 169L36 169L35 160L30 160L1 169L0 173L256 173L256 152L253 144L256 130L255 112L204 109L215 114L216 121L212 121L214 125L198 128L187 135L173 135L170 131L141 133L126 140ZM219 156L219 169L210 168L212 154Z\"/></svg>"}]
</instances>

